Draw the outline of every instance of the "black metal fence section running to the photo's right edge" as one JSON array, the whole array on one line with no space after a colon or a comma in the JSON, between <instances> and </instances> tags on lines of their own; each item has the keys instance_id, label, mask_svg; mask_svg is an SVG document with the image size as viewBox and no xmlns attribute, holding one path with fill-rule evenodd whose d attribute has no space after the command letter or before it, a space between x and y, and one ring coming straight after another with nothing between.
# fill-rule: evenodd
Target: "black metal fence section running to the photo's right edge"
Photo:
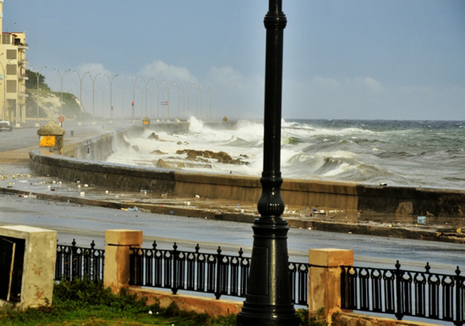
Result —
<instances>
[{"instance_id":1,"label":"black metal fence section running to the photo's right edge","mask_svg":"<svg viewBox=\"0 0 465 326\"><path fill-rule=\"evenodd\" d=\"M465 275L341 266L342 308L465 323Z\"/></svg>"}]
</instances>

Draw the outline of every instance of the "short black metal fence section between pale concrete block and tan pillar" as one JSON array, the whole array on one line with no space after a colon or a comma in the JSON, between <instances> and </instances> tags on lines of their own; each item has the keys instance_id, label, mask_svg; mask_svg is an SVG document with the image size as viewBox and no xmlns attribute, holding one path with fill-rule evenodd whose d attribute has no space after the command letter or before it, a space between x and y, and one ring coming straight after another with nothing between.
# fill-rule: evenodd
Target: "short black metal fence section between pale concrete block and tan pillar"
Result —
<instances>
[{"instance_id":1,"label":"short black metal fence section between pale concrete block and tan pillar","mask_svg":"<svg viewBox=\"0 0 465 326\"><path fill-rule=\"evenodd\" d=\"M90 248L76 247L75 239L71 246L57 245L55 280L90 279L103 280L105 250L95 249L92 241Z\"/></svg>"}]
</instances>

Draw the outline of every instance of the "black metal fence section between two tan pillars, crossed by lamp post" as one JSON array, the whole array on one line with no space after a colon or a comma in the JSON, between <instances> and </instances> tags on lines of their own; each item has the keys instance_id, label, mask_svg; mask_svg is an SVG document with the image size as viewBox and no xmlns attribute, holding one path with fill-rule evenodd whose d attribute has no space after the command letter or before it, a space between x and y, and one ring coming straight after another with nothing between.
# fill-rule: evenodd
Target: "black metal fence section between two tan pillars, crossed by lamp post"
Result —
<instances>
[{"instance_id":1,"label":"black metal fence section between two tan pillars, crossed by lamp post","mask_svg":"<svg viewBox=\"0 0 465 326\"><path fill-rule=\"evenodd\" d=\"M169 288L173 294L178 290L189 290L222 295L245 297L250 258L239 255L224 255L221 247L216 253L201 253L197 244L195 251L180 251L176 242L173 249L131 248L130 280L133 286ZM308 269L310 264L291 262L289 272L292 285L293 302L307 305Z\"/></svg>"}]
</instances>

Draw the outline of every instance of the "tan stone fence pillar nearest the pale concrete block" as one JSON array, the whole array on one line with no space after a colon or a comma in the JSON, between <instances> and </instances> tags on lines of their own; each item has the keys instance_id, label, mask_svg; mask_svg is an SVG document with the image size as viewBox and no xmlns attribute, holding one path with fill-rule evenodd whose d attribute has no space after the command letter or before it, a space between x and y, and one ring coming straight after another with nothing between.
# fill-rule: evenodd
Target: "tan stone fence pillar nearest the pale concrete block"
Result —
<instances>
[{"instance_id":1,"label":"tan stone fence pillar nearest the pale concrete block","mask_svg":"<svg viewBox=\"0 0 465 326\"><path fill-rule=\"evenodd\" d=\"M129 286L129 248L142 247L142 231L114 229L105 231L104 288L119 292Z\"/></svg>"}]
</instances>

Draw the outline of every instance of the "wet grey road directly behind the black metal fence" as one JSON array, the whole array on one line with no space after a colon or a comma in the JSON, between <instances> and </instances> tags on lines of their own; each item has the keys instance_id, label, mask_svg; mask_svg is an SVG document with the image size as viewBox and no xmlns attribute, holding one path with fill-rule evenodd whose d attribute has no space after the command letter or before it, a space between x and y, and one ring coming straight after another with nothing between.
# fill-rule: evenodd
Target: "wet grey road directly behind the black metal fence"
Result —
<instances>
[{"instance_id":1,"label":"wet grey road directly behind the black metal fence","mask_svg":"<svg viewBox=\"0 0 465 326\"><path fill-rule=\"evenodd\" d=\"M159 248L169 249L176 242L180 249L214 251L218 246L228 253L240 248L246 255L252 249L252 228L248 223L212 221L202 218L131 212L66 202L31 199L0 193L0 224L22 224L58 231L60 243L76 239L87 247L92 240L104 245L106 229L144 231L144 247L157 240ZM403 268L421 270L426 262L432 271L452 273L456 266L465 268L465 246L444 242L403 240L398 238L336 234L308 229L290 229L291 261L306 262L308 249L353 249L356 265L392 267L400 260Z\"/></svg>"}]
</instances>

